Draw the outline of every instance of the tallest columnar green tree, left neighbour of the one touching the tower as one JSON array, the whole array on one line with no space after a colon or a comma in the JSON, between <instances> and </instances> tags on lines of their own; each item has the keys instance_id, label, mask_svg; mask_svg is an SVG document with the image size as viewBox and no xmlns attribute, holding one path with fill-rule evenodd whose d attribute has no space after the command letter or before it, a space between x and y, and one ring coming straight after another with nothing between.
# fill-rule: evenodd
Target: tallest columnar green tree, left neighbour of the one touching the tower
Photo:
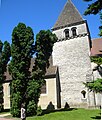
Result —
<instances>
[{"instance_id":1,"label":"tallest columnar green tree, left neighbour of the one touching the tower","mask_svg":"<svg viewBox=\"0 0 102 120\"><path fill-rule=\"evenodd\" d=\"M30 62L34 43L33 30L19 23L12 32L11 56L9 72L12 75L11 83L11 114L20 115L21 104L26 105L26 90L30 79Z\"/></svg>"}]
</instances>

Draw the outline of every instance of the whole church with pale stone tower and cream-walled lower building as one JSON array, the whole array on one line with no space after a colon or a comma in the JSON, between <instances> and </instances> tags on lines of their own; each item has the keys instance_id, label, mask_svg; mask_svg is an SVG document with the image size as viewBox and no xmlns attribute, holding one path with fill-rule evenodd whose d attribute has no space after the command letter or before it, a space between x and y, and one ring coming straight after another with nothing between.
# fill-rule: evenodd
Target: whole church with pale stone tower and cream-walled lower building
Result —
<instances>
[{"instance_id":1,"label":"whole church with pale stone tower and cream-walled lower building","mask_svg":"<svg viewBox=\"0 0 102 120\"><path fill-rule=\"evenodd\" d=\"M91 41L87 21L82 18L71 0L68 0L58 17L52 32L58 37L53 46L50 67L45 75L38 105L47 109L50 105L64 108L94 108L100 106L100 94L90 92L83 83L101 78L90 56L98 55ZM102 39L99 39L101 41ZM101 54L101 53L100 53ZM34 60L31 60L31 69ZM10 108L10 81L6 73L4 88L4 109Z\"/></svg>"}]
</instances>

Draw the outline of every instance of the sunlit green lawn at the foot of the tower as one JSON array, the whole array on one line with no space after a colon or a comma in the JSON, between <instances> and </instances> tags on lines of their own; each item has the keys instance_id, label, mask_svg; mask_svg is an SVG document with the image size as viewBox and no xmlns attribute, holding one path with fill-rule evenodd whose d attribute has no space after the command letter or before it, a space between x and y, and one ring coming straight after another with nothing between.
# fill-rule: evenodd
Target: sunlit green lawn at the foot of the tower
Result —
<instances>
[{"instance_id":1,"label":"sunlit green lawn at the foot of the tower","mask_svg":"<svg viewBox=\"0 0 102 120\"><path fill-rule=\"evenodd\" d=\"M44 113L42 116L27 117L26 120L100 120L100 110L61 109L51 113Z\"/></svg>"}]
</instances>

